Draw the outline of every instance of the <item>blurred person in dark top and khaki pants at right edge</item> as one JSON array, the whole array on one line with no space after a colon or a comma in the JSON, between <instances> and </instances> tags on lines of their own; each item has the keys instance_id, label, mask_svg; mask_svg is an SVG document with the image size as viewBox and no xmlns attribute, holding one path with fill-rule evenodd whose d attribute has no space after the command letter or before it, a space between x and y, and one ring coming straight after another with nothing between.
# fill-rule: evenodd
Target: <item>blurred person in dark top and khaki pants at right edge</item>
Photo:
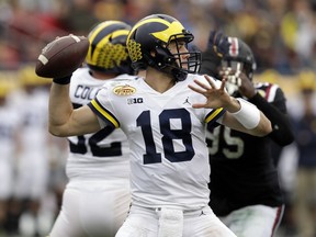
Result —
<instances>
[{"instance_id":1,"label":"blurred person in dark top and khaki pants at right edge","mask_svg":"<svg viewBox=\"0 0 316 237\"><path fill-rule=\"evenodd\" d=\"M314 70L308 69L297 76L298 93L289 101L297 149L291 194L297 236L306 237L316 235L316 78Z\"/></svg>"}]
</instances>

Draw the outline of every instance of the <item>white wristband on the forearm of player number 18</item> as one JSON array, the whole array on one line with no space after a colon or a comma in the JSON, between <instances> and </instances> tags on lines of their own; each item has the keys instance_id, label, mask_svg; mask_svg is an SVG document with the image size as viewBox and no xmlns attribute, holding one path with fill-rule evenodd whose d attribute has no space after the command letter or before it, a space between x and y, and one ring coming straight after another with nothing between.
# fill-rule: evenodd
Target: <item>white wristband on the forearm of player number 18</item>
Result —
<instances>
[{"instance_id":1,"label":"white wristband on the forearm of player number 18","mask_svg":"<svg viewBox=\"0 0 316 237\"><path fill-rule=\"evenodd\" d=\"M240 110L232 113L233 116L247 129L253 129L260 123L260 111L258 108L241 98L236 98L240 103Z\"/></svg>"}]
</instances>

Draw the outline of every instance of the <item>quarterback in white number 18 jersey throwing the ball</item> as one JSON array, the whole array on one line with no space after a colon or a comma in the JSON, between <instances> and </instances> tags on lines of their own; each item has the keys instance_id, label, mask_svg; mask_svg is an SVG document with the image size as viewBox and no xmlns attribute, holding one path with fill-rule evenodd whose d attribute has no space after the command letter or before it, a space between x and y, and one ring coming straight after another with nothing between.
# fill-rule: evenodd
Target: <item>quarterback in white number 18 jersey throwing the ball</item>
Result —
<instances>
[{"instance_id":1,"label":"quarterback in white number 18 jersey throwing the ball","mask_svg":"<svg viewBox=\"0 0 316 237\"><path fill-rule=\"evenodd\" d=\"M201 56L188 52L191 41L178 20L153 14L127 37L132 65L146 69L144 79L106 83L77 110L67 95L69 77L52 84L52 134L87 134L111 125L127 135L132 207L116 237L235 236L207 205L205 127L218 122L264 136L271 124L252 104L229 97L225 81L191 74Z\"/></svg>"}]
</instances>

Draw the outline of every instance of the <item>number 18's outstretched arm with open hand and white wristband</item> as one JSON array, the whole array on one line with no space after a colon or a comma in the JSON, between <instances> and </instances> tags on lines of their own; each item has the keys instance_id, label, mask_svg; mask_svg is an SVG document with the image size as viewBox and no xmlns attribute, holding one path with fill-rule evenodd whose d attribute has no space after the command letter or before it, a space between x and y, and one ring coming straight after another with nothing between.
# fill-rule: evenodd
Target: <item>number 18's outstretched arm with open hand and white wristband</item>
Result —
<instances>
[{"instance_id":1,"label":"number 18's outstretched arm with open hand and white wristband","mask_svg":"<svg viewBox=\"0 0 316 237\"><path fill-rule=\"evenodd\" d=\"M224 108L227 112L223 116L223 125L253 136L266 136L271 133L271 123L261 111L242 99L230 97L225 91L225 79L222 80L221 88L217 88L212 78L206 75L204 77L208 84L194 80L198 87L189 86L207 99L205 103L193 104L193 108Z\"/></svg>"}]
</instances>

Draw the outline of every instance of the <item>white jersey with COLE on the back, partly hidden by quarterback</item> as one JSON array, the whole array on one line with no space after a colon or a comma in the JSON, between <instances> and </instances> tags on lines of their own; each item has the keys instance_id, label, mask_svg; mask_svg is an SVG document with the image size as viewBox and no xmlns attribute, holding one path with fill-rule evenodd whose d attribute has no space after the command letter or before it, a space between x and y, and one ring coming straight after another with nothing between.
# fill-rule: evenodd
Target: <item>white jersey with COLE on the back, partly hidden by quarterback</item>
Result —
<instances>
[{"instance_id":1,"label":"white jersey with COLE on the back, partly hidden by quarterback","mask_svg":"<svg viewBox=\"0 0 316 237\"><path fill-rule=\"evenodd\" d=\"M112 80L131 80L135 76L121 75ZM74 108L88 104L104 83L93 78L88 68L79 68L71 77L70 100ZM67 159L68 178L128 179L129 149L121 129L106 126L94 134L68 137L70 155Z\"/></svg>"}]
</instances>

